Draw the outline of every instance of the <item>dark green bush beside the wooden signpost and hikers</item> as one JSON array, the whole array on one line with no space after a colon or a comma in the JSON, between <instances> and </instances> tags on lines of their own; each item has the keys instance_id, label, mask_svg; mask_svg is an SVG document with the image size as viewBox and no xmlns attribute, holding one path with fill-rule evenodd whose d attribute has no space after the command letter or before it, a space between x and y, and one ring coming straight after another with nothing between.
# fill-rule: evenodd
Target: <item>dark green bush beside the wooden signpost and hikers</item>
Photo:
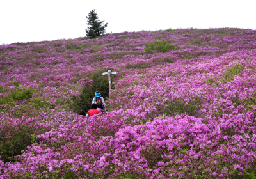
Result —
<instances>
[{"instance_id":1,"label":"dark green bush beside the wooden signpost and hikers","mask_svg":"<svg viewBox=\"0 0 256 179\"><path fill-rule=\"evenodd\" d=\"M90 79L92 79L92 86L90 84L85 85L82 88L80 96L73 98L72 106L74 111L77 113L80 110L88 111L91 108L92 99L95 95L95 91L100 91L101 96L106 99L109 97L109 84L108 84L108 75L102 75L103 72L107 72L107 69L97 70L90 74ZM114 75L112 75L112 78ZM111 89L114 88L114 85L111 85Z\"/></svg>"}]
</instances>

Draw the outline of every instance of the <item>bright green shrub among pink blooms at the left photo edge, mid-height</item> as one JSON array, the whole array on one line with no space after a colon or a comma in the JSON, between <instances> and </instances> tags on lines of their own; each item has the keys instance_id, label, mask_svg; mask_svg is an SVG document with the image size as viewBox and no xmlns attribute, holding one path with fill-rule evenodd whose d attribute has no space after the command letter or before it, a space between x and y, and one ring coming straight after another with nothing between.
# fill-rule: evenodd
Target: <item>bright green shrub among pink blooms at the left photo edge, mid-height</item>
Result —
<instances>
[{"instance_id":1,"label":"bright green shrub among pink blooms at the left photo edge, mid-height","mask_svg":"<svg viewBox=\"0 0 256 179\"><path fill-rule=\"evenodd\" d=\"M20 88L19 83L17 81L12 82L13 86L16 86L16 89L9 89L10 93L7 95L4 95L2 98L0 98L0 104L12 104L13 101L19 101L19 100L29 100L33 96L33 91L35 89L32 88Z\"/></svg>"}]
</instances>

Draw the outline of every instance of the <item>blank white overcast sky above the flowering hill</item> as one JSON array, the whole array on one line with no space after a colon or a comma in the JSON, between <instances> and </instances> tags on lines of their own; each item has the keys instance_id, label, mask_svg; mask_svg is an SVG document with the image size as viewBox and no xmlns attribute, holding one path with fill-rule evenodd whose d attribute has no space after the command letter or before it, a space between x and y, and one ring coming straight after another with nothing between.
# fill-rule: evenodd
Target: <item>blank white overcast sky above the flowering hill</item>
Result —
<instances>
[{"instance_id":1,"label":"blank white overcast sky above the flowering hill","mask_svg":"<svg viewBox=\"0 0 256 179\"><path fill-rule=\"evenodd\" d=\"M255 0L0 0L0 45L86 36L95 9L107 33L177 28L256 29Z\"/></svg>"}]
</instances>

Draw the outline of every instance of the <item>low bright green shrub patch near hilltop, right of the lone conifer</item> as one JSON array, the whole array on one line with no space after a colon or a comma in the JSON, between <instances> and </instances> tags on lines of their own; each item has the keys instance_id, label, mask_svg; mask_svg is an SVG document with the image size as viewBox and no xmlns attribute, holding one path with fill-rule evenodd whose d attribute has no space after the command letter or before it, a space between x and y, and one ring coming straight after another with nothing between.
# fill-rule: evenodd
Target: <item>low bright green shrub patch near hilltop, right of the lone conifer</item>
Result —
<instances>
[{"instance_id":1,"label":"low bright green shrub patch near hilltop, right of the lone conifer","mask_svg":"<svg viewBox=\"0 0 256 179\"><path fill-rule=\"evenodd\" d=\"M170 50L175 49L175 45L171 45L170 43L166 42L166 40L162 41L154 41L154 42L148 42L144 44L146 48L144 50L147 52L147 54L153 54L154 51L158 52L170 52Z\"/></svg>"}]
</instances>

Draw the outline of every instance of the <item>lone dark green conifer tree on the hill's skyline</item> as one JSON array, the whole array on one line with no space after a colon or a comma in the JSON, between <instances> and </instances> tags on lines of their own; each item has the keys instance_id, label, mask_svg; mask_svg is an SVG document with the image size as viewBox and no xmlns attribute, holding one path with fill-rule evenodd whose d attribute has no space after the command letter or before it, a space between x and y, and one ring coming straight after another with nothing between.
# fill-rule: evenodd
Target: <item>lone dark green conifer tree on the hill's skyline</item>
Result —
<instances>
[{"instance_id":1,"label":"lone dark green conifer tree on the hill's skyline","mask_svg":"<svg viewBox=\"0 0 256 179\"><path fill-rule=\"evenodd\" d=\"M86 36L94 38L95 36L104 35L104 33L106 33L105 28L108 26L108 23L103 24L105 20L100 21L95 10L92 10L90 13L88 13L88 16L86 16L86 18L87 25L90 25L90 27L85 30Z\"/></svg>"}]
</instances>

